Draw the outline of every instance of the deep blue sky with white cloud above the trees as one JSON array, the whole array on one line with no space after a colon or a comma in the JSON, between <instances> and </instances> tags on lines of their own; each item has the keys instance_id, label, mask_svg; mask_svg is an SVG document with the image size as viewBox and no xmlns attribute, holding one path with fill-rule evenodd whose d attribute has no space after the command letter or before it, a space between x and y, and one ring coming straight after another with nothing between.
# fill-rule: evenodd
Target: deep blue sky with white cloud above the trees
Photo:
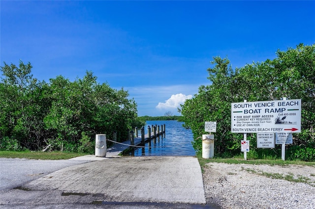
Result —
<instances>
[{"instance_id":1,"label":"deep blue sky with white cloud above the trees","mask_svg":"<svg viewBox=\"0 0 315 209\"><path fill-rule=\"evenodd\" d=\"M86 71L124 87L138 115L179 115L210 84L214 56L232 68L315 44L315 1L0 1L0 63L34 78Z\"/></svg>"}]
</instances>

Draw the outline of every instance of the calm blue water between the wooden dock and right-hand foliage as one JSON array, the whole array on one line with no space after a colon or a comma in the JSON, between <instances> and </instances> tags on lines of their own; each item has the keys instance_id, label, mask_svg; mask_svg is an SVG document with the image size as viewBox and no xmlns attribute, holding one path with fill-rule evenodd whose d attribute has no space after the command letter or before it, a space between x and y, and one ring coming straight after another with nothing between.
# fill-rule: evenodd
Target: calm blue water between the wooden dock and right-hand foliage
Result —
<instances>
[{"instance_id":1,"label":"calm blue water between the wooden dock and right-hand foliage","mask_svg":"<svg viewBox=\"0 0 315 209\"><path fill-rule=\"evenodd\" d=\"M147 142L145 148L135 148L134 153L130 152L129 156L195 156L196 152L191 145L192 132L182 126L183 122L147 121L146 123L145 134L148 132L148 126L152 128L152 125L159 125L161 131L163 124L165 124L165 134L152 139L151 146ZM141 131L139 136L141 136Z\"/></svg>"}]
</instances>

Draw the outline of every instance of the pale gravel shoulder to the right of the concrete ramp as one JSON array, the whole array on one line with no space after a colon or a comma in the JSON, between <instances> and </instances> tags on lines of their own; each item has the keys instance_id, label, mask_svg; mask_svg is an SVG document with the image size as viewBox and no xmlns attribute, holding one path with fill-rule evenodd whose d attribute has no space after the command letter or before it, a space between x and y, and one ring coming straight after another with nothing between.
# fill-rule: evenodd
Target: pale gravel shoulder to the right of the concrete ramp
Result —
<instances>
[{"instance_id":1,"label":"pale gravel shoulder to the right of the concrete ramp","mask_svg":"<svg viewBox=\"0 0 315 209\"><path fill-rule=\"evenodd\" d=\"M267 177L291 177L295 183ZM203 172L207 203L222 209L315 208L315 167L210 162Z\"/></svg>"}]
</instances>

